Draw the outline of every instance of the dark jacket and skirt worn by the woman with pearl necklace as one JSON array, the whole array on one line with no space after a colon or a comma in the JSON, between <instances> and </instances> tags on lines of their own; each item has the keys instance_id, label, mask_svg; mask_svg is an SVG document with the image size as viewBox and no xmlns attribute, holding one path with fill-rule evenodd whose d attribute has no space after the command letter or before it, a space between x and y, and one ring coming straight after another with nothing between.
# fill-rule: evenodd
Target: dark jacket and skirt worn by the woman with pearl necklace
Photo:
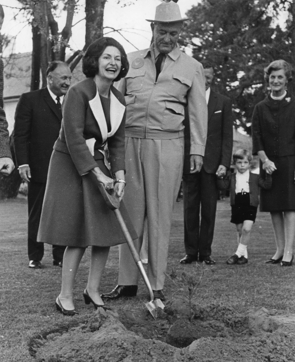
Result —
<instances>
[{"instance_id":1,"label":"dark jacket and skirt worn by the woman with pearl necklace","mask_svg":"<svg viewBox=\"0 0 295 362\"><path fill-rule=\"evenodd\" d=\"M274 162L270 190L260 190L260 211L295 210L295 100L287 94L281 101L270 96L258 103L252 118L253 154L265 151ZM260 174L265 171L260 162Z\"/></svg>"}]
</instances>

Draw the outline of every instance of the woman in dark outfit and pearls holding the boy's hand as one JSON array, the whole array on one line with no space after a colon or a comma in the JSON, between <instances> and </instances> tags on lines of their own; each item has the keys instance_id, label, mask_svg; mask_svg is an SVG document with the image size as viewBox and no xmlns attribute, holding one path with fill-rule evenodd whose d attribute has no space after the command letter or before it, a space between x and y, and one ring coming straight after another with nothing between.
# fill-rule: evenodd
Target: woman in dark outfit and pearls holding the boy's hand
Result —
<instances>
[{"instance_id":1,"label":"woman in dark outfit and pearls holding the boy's hand","mask_svg":"<svg viewBox=\"0 0 295 362\"><path fill-rule=\"evenodd\" d=\"M266 263L291 266L295 238L295 99L286 90L291 66L275 60L265 68L270 94L253 112L253 154L260 157L260 173L272 174L270 190L260 191L260 210L269 211L277 251Z\"/></svg>"}]
</instances>

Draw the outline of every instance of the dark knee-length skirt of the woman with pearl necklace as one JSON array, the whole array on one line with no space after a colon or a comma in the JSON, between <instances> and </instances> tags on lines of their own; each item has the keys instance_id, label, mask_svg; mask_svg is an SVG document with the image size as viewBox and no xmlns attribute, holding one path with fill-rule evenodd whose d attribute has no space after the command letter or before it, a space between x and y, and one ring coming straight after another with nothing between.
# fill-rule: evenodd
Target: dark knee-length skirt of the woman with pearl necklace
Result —
<instances>
[{"instance_id":1,"label":"dark knee-length skirt of the woman with pearl necklace","mask_svg":"<svg viewBox=\"0 0 295 362\"><path fill-rule=\"evenodd\" d=\"M277 168L270 190L260 189L260 211L295 210L295 156L269 157ZM265 177L260 163L260 174Z\"/></svg>"}]
</instances>

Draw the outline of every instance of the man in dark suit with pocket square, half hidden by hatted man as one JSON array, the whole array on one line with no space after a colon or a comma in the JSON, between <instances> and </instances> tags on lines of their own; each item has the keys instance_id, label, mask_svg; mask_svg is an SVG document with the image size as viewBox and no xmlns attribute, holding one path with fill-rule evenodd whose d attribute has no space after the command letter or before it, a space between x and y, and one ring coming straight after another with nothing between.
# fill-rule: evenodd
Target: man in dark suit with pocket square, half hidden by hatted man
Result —
<instances>
[{"instance_id":1,"label":"man in dark suit with pocket square, half hidden by hatted man","mask_svg":"<svg viewBox=\"0 0 295 362\"><path fill-rule=\"evenodd\" d=\"M210 85L214 68L208 61L202 62L206 78L208 105L208 132L201 172L190 173L189 123L185 123L185 160L183 174L184 244L186 255L181 264L204 261L215 264L211 258L218 190L216 175L225 175L232 156L233 117L228 97L214 92ZM200 223L201 209L201 223Z\"/></svg>"}]
</instances>

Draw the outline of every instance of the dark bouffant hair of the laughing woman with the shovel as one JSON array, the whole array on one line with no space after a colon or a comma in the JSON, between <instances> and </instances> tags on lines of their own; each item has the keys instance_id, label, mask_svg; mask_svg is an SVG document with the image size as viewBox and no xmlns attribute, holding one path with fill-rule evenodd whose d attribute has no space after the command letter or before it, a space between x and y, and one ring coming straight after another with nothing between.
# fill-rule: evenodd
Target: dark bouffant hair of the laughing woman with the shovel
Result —
<instances>
[{"instance_id":1,"label":"dark bouffant hair of the laughing woman with the shovel","mask_svg":"<svg viewBox=\"0 0 295 362\"><path fill-rule=\"evenodd\" d=\"M124 78L128 73L129 63L124 48L117 40L105 37L91 43L82 58L82 71L87 78L94 77L98 73L98 58L108 46L114 46L121 53L121 70L114 81Z\"/></svg>"}]
</instances>

